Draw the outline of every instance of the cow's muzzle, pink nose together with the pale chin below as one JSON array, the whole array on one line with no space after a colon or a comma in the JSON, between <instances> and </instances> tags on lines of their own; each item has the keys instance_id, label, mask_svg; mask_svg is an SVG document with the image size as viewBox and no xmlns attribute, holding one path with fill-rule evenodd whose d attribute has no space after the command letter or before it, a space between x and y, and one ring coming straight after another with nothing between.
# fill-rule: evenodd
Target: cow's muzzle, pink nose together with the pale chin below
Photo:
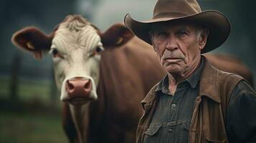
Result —
<instances>
[{"instance_id":1,"label":"cow's muzzle, pink nose together with the pale chin below","mask_svg":"<svg viewBox=\"0 0 256 143\"><path fill-rule=\"evenodd\" d=\"M70 102L71 104L85 104L90 100L90 92L92 91L92 82L90 79L75 78L67 80L65 83L65 89L69 99L65 99L65 102Z\"/></svg>"}]
</instances>

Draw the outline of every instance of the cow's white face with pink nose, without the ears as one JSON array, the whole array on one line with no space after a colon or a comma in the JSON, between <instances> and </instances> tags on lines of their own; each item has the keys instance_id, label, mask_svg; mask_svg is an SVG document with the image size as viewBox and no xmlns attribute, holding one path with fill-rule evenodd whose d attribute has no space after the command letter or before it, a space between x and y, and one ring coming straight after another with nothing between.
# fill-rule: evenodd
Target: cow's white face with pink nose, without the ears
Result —
<instances>
[{"instance_id":1,"label":"cow's white face with pink nose, without the ears","mask_svg":"<svg viewBox=\"0 0 256 143\"><path fill-rule=\"evenodd\" d=\"M76 20L60 24L49 52L62 101L84 104L97 99L100 50L103 50L100 36L90 24Z\"/></svg>"}]
</instances>

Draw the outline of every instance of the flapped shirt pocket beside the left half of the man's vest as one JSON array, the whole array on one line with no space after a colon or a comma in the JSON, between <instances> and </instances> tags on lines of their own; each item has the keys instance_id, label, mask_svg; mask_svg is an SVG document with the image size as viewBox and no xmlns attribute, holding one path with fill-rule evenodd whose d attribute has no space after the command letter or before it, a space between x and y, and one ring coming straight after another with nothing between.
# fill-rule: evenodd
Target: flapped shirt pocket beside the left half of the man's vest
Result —
<instances>
[{"instance_id":1,"label":"flapped shirt pocket beside the left half of the man's vest","mask_svg":"<svg viewBox=\"0 0 256 143\"><path fill-rule=\"evenodd\" d=\"M146 129L144 143L156 143L161 140L161 125L154 125Z\"/></svg>"}]
</instances>

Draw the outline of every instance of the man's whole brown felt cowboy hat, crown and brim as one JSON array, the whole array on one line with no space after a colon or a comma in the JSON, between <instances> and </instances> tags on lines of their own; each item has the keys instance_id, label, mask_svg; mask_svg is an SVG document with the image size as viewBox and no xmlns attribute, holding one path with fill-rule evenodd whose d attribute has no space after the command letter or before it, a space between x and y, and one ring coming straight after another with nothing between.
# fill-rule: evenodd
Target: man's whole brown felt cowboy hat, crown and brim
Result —
<instances>
[{"instance_id":1,"label":"man's whole brown felt cowboy hat, crown and brim","mask_svg":"<svg viewBox=\"0 0 256 143\"><path fill-rule=\"evenodd\" d=\"M125 26L138 38L151 44L148 31L151 26L160 22L182 21L199 24L209 29L207 44L202 53L212 51L222 45L230 34L230 23L219 11L202 11L196 0L158 0L153 11L153 18L148 21L136 21L130 14L125 16Z\"/></svg>"}]
</instances>

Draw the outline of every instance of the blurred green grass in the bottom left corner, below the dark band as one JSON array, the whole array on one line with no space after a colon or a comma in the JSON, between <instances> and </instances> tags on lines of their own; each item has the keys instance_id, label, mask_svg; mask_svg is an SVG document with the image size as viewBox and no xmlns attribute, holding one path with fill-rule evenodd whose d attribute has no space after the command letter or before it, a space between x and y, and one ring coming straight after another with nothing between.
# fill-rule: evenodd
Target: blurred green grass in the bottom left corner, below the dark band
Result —
<instances>
[{"instance_id":1,"label":"blurred green grass in the bottom left corner, below the dark band","mask_svg":"<svg viewBox=\"0 0 256 143\"><path fill-rule=\"evenodd\" d=\"M4 112L0 114L0 142L65 143L67 138L58 116Z\"/></svg>"}]
</instances>

